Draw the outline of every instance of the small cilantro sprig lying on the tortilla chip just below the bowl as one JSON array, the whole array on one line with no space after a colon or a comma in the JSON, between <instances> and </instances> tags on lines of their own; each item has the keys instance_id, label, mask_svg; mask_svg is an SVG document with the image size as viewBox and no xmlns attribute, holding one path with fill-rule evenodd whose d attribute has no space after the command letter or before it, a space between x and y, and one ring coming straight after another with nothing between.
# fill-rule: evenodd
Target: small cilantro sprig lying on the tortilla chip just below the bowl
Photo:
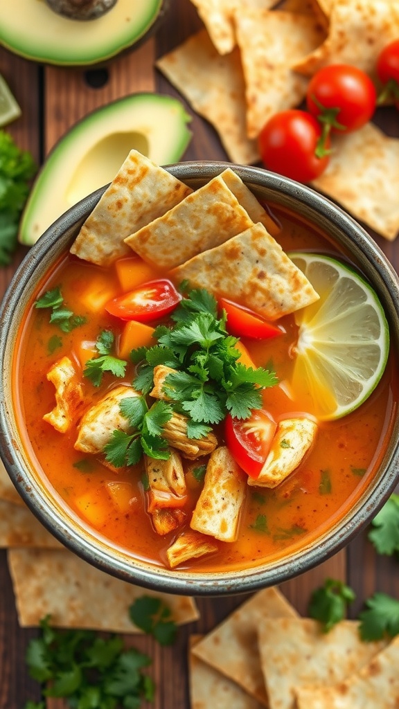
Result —
<instances>
[{"instance_id":1,"label":"small cilantro sprig lying on the tortilla chip just below the bowl","mask_svg":"<svg viewBox=\"0 0 399 709\"><path fill-rule=\"evenodd\" d=\"M170 645L175 641L177 627L168 605L155 596L140 596L129 607L129 616L137 627L161 645Z\"/></svg>"}]
</instances>

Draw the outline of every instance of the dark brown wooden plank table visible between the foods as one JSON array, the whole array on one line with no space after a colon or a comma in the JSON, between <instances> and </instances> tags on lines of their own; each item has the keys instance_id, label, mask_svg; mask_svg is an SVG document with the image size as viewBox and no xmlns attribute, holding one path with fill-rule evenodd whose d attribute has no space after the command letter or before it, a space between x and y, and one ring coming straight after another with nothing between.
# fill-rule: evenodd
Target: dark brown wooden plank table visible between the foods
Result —
<instances>
[{"instance_id":1,"label":"dark brown wooden plank table visible between the foods","mask_svg":"<svg viewBox=\"0 0 399 709\"><path fill-rule=\"evenodd\" d=\"M155 57L163 55L200 27L197 13L189 0L171 0L170 12L155 38L124 57L119 57L102 74L96 69L41 67L26 62L0 48L0 73L9 81L23 110L22 118L9 127L20 147L43 160L55 141L75 121L97 106L135 91L159 91L178 96L175 89L153 69ZM95 88L98 79L105 84ZM212 127L192 115L192 143L186 160L226 160L226 154ZM386 133L399 137L399 114L393 108L380 109L376 122ZM399 199L399 197L398 197ZM399 242L388 243L371 235L399 270ZM4 293L16 266L25 255L22 247L11 267L0 270L0 295ZM283 584L282 590L300 613L306 613L310 592L326 576L346 579L357 593L351 608L356 617L364 599L374 591L385 591L399 598L399 565L395 559L377 557L366 532L349 547L313 571ZM157 683L154 709L188 709L187 638L190 632L207 632L243 601L242 596L198 599L200 620L182 627L177 643L160 649L149 637L134 637L133 642L153 657L153 677ZM24 662L26 646L36 630L18 627L13 591L6 564L6 552L0 552L0 709L22 709L26 700L38 701L38 684L29 679ZM48 709L61 709L59 700L48 700ZM234 709L234 708L232 708Z\"/></svg>"}]
</instances>

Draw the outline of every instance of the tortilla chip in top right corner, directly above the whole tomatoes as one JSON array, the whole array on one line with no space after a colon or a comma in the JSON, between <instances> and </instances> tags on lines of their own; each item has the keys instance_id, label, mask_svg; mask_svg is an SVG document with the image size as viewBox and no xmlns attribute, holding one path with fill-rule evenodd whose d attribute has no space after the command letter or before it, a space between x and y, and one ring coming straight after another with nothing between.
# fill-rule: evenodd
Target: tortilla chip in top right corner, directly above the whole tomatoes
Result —
<instances>
[{"instance_id":1,"label":"tortilla chip in top right corner, directly above the whole tomatoes","mask_svg":"<svg viewBox=\"0 0 399 709\"><path fill-rule=\"evenodd\" d=\"M310 77L330 64L350 64L375 77L379 52L399 36L399 3L324 0L322 9L329 12L329 34L310 55L295 62L295 71Z\"/></svg>"}]
</instances>

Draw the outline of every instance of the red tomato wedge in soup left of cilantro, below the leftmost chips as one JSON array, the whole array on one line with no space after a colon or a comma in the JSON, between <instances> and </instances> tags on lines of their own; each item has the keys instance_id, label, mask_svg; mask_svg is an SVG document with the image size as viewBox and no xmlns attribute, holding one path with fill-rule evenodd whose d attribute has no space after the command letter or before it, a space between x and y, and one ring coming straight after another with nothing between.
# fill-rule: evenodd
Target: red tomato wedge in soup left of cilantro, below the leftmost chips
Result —
<instances>
[{"instance_id":1,"label":"red tomato wedge in soup left of cilantro, below the leftmost chips","mask_svg":"<svg viewBox=\"0 0 399 709\"><path fill-rule=\"evenodd\" d=\"M121 320L146 323L171 313L181 299L182 296L170 281L160 279L148 281L133 291L114 298L106 304L105 309Z\"/></svg>"}]
</instances>

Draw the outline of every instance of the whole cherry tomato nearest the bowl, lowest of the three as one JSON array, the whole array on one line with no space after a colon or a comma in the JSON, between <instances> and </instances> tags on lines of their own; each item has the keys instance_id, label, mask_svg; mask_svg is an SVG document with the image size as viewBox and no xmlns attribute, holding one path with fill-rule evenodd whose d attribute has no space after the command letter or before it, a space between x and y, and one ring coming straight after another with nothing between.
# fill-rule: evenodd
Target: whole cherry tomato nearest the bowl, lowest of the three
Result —
<instances>
[{"instance_id":1,"label":"whole cherry tomato nearest the bowl, lowest of the three","mask_svg":"<svg viewBox=\"0 0 399 709\"><path fill-rule=\"evenodd\" d=\"M310 182L324 172L329 162L329 155L316 155L321 138L322 127L310 113L295 108L275 113L258 138L261 159L273 172L297 182Z\"/></svg>"}]
</instances>

